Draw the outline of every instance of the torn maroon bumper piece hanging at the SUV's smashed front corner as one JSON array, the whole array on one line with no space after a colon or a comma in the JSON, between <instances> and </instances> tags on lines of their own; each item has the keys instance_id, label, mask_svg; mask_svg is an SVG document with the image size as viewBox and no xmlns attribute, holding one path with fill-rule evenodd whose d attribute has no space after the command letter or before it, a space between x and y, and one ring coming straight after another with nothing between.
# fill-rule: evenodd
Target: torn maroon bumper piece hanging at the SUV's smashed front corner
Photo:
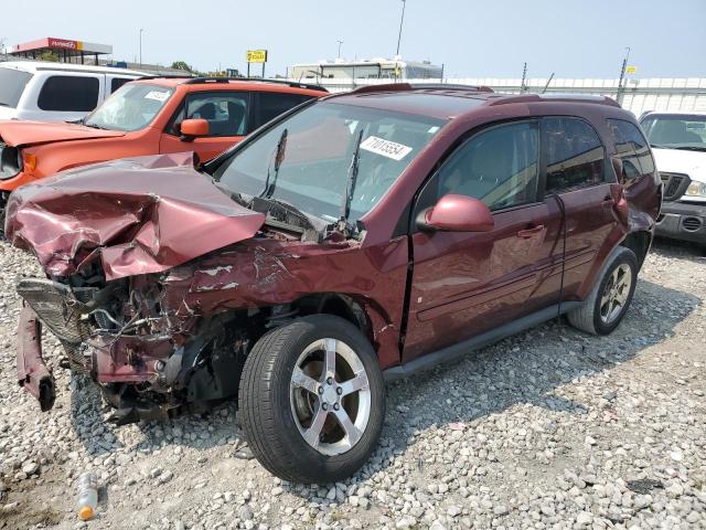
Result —
<instances>
[{"instance_id":1,"label":"torn maroon bumper piece hanging at the SUV's smashed front corner","mask_svg":"<svg viewBox=\"0 0 706 530\"><path fill-rule=\"evenodd\" d=\"M54 406L54 378L42 358L42 325L26 305L18 329L18 382L39 400L42 412Z\"/></svg>"}]
</instances>

